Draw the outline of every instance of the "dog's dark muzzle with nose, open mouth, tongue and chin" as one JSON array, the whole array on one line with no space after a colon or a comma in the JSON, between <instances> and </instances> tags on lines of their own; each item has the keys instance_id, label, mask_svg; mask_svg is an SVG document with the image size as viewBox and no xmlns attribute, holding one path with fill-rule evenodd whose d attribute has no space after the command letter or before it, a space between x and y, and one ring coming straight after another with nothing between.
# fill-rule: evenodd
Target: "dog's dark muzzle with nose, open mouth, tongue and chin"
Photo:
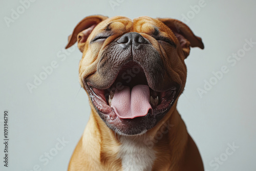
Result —
<instances>
[{"instance_id":1,"label":"dog's dark muzzle with nose, open mouth, tongue and chin","mask_svg":"<svg viewBox=\"0 0 256 171\"><path fill-rule=\"evenodd\" d=\"M105 48L84 84L101 119L118 133L135 135L155 126L177 98L178 84L164 75L159 52L130 32Z\"/></svg>"}]
</instances>

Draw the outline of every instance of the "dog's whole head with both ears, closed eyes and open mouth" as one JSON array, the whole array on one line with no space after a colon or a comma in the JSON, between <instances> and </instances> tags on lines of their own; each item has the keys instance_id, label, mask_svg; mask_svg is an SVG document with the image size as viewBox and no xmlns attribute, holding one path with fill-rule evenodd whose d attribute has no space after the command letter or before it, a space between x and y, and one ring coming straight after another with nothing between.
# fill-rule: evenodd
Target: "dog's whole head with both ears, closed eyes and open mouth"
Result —
<instances>
[{"instance_id":1,"label":"dog's whole head with both ears, closed eyes and open mouth","mask_svg":"<svg viewBox=\"0 0 256 171\"><path fill-rule=\"evenodd\" d=\"M143 134L170 115L185 86L189 49L203 49L185 24L146 16L86 17L66 48L76 41L83 53L80 84L93 110L124 135Z\"/></svg>"}]
</instances>

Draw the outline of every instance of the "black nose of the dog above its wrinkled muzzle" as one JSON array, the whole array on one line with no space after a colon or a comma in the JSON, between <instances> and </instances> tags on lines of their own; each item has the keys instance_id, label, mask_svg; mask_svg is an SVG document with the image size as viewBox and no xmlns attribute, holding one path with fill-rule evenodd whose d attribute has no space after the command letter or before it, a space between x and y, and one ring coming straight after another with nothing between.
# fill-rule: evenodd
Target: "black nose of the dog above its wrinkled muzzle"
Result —
<instances>
[{"instance_id":1,"label":"black nose of the dog above its wrinkled muzzle","mask_svg":"<svg viewBox=\"0 0 256 171\"><path fill-rule=\"evenodd\" d=\"M126 33L122 35L118 40L118 44L123 48L128 48L132 45L135 49L140 49L141 44L148 44L148 40L145 39L142 35L136 32Z\"/></svg>"}]
</instances>

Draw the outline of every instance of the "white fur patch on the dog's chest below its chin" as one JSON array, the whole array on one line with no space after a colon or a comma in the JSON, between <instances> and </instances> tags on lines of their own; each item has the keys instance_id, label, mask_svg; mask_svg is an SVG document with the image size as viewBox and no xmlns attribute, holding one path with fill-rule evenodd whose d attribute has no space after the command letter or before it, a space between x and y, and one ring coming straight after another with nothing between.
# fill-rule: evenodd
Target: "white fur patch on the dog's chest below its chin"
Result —
<instances>
[{"instance_id":1,"label":"white fur patch on the dog's chest below its chin","mask_svg":"<svg viewBox=\"0 0 256 171\"><path fill-rule=\"evenodd\" d=\"M143 141L120 138L121 146L118 157L122 160L124 171L150 171L156 159L155 151Z\"/></svg>"}]
</instances>

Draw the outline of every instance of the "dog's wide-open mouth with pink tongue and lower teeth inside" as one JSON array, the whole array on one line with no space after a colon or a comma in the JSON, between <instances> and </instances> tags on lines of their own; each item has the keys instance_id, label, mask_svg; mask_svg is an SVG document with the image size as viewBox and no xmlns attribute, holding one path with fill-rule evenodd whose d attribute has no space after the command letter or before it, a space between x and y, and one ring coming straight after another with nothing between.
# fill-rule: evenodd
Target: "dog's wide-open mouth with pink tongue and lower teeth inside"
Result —
<instances>
[{"instance_id":1,"label":"dog's wide-open mouth with pink tongue and lower teeth inside","mask_svg":"<svg viewBox=\"0 0 256 171\"><path fill-rule=\"evenodd\" d=\"M134 120L166 113L176 99L176 87L154 91L143 69L135 62L122 67L113 84L104 90L87 82L95 109L108 120Z\"/></svg>"}]
</instances>

